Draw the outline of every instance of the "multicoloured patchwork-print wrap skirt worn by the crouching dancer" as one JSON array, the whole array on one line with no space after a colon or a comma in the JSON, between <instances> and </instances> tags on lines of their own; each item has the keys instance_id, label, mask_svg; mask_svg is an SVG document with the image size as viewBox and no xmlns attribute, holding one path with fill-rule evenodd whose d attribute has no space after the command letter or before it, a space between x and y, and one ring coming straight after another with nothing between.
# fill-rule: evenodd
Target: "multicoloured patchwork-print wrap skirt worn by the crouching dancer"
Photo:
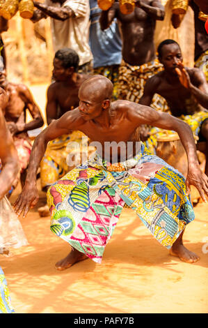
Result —
<instances>
[{"instance_id":1,"label":"multicoloured patchwork-print wrap skirt worn by the crouching dancer","mask_svg":"<svg viewBox=\"0 0 208 328\"><path fill-rule=\"evenodd\" d=\"M95 154L47 192L51 231L95 262L102 261L125 204L166 248L193 221L182 174L140 146L134 158L122 163Z\"/></svg>"}]
</instances>

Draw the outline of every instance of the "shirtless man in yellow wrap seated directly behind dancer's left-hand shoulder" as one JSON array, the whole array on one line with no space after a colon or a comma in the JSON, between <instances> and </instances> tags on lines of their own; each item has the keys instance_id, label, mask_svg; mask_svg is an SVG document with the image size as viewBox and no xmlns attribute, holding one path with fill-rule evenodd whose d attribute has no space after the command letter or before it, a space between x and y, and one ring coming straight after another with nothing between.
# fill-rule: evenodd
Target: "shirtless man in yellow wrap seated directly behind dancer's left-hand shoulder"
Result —
<instances>
[{"instance_id":1,"label":"shirtless man in yellow wrap seated directly behind dancer's left-hand shoulder","mask_svg":"<svg viewBox=\"0 0 208 328\"><path fill-rule=\"evenodd\" d=\"M77 52L70 48L58 50L54 57L53 79L54 83L49 85L47 90L47 124L51 124L55 119L59 119L68 110L73 110L79 105L78 91L81 83L90 75L77 73L79 68L79 56ZM73 131L70 134L62 135L51 141L47 147L44 158L40 164L40 180L42 190L54 184L70 170L67 165L67 154L70 147L69 142L79 142L83 133ZM48 216L47 205L38 209L40 216Z\"/></svg>"}]
</instances>

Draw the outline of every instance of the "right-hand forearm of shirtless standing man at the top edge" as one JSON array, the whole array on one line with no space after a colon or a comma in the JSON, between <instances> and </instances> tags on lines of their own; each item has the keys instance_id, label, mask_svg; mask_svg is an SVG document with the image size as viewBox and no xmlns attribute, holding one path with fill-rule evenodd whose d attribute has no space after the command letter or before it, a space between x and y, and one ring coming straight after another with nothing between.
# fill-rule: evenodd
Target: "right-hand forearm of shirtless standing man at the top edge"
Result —
<instances>
[{"instance_id":1,"label":"right-hand forearm of shirtless standing man at the top edge","mask_svg":"<svg viewBox=\"0 0 208 328\"><path fill-rule=\"evenodd\" d=\"M150 5L147 5L143 0L136 0L135 5L141 8L154 20L163 20L165 17L165 9L160 0L154 0Z\"/></svg>"}]
</instances>

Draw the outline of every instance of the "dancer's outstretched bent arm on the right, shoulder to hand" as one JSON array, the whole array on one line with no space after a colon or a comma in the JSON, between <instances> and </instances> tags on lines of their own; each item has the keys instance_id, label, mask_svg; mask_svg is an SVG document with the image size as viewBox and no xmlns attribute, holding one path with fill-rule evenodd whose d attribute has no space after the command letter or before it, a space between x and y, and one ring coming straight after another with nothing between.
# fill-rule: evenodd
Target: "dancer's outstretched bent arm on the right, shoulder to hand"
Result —
<instances>
[{"instance_id":1,"label":"dancer's outstretched bent arm on the right, shoulder to hand","mask_svg":"<svg viewBox=\"0 0 208 328\"><path fill-rule=\"evenodd\" d=\"M165 130L173 130L178 133L188 158L188 174L186 177L187 192L190 192L190 185L192 184L198 188L202 200L206 202L205 195L208 196L208 177L200 170L195 141L190 126L182 121L182 119L177 119L165 112L157 112L151 107L139 106L138 104L135 104L133 107L134 110L131 110L131 121L134 121L134 124L136 124L136 122L138 125L148 124Z\"/></svg>"}]
</instances>

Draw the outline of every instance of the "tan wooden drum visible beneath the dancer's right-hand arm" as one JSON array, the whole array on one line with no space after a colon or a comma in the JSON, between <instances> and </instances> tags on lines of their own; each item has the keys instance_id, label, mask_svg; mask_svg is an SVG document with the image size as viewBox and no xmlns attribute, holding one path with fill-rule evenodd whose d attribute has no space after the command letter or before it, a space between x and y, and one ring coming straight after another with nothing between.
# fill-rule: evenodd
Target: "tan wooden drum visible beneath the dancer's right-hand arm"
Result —
<instances>
[{"instance_id":1,"label":"tan wooden drum visible beneath the dancer's right-hand arm","mask_svg":"<svg viewBox=\"0 0 208 328\"><path fill-rule=\"evenodd\" d=\"M166 163L173 166L186 177L188 171L188 160L186 151L179 140L179 135L173 131L163 131L156 135L156 154Z\"/></svg>"}]
</instances>

